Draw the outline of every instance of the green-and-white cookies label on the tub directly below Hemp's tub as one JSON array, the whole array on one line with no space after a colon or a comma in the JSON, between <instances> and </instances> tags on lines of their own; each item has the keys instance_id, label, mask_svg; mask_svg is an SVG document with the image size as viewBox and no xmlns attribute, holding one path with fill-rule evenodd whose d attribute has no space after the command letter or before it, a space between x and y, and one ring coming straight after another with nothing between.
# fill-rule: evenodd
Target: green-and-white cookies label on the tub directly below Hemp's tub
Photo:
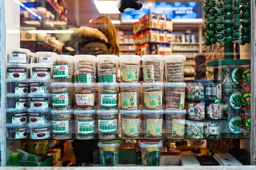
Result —
<instances>
[{"instance_id":1,"label":"green-and-white cookies label on the tub directly below Hemp's tub","mask_svg":"<svg viewBox=\"0 0 256 170\"><path fill-rule=\"evenodd\" d=\"M78 121L79 135L92 135L95 128L95 120L79 120Z\"/></svg>"}]
</instances>

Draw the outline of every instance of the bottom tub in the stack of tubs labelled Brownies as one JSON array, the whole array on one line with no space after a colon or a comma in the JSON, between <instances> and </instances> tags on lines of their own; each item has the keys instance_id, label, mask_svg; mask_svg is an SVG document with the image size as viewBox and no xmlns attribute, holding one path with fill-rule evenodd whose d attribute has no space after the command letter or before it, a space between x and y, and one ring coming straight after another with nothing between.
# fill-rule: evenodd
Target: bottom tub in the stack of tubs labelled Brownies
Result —
<instances>
[{"instance_id":1,"label":"bottom tub in the stack of tubs labelled Brownies","mask_svg":"<svg viewBox=\"0 0 256 170\"><path fill-rule=\"evenodd\" d=\"M51 136L52 123L29 123L30 139L47 139Z\"/></svg>"}]
</instances>

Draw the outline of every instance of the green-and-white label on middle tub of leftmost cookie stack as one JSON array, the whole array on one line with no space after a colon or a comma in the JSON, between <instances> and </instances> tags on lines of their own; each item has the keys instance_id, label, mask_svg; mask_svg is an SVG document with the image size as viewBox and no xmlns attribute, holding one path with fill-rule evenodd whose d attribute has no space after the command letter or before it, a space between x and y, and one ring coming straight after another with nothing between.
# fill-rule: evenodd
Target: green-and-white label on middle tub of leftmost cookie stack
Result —
<instances>
[{"instance_id":1,"label":"green-and-white label on middle tub of leftmost cookie stack","mask_svg":"<svg viewBox=\"0 0 256 170\"><path fill-rule=\"evenodd\" d=\"M68 106L68 92L52 93L53 108L67 108L67 106Z\"/></svg>"}]
</instances>

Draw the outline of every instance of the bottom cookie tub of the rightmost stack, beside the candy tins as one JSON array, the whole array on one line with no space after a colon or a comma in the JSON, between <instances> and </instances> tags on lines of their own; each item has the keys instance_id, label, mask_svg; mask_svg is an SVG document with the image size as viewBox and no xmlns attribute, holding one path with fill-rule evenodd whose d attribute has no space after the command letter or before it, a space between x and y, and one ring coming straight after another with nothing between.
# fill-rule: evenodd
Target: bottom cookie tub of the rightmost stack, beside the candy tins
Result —
<instances>
[{"instance_id":1,"label":"bottom cookie tub of the rightmost stack, beside the candy tins","mask_svg":"<svg viewBox=\"0 0 256 170\"><path fill-rule=\"evenodd\" d=\"M183 139L186 110L165 110L165 133L169 139Z\"/></svg>"}]
</instances>

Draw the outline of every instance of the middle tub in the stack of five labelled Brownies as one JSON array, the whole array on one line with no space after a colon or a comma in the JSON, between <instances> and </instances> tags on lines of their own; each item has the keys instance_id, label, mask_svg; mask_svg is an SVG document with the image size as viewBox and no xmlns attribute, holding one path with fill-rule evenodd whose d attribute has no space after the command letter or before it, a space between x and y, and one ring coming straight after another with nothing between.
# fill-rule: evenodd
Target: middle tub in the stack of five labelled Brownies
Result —
<instances>
[{"instance_id":1,"label":"middle tub in the stack of five labelled Brownies","mask_svg":"<svg viewBox=\"0 0 256 170\"><path fill-rule=\"evenodd\" d=\"M29 94L30 108L49 108L52 94Z\"/></svg>"}]
</instances>

